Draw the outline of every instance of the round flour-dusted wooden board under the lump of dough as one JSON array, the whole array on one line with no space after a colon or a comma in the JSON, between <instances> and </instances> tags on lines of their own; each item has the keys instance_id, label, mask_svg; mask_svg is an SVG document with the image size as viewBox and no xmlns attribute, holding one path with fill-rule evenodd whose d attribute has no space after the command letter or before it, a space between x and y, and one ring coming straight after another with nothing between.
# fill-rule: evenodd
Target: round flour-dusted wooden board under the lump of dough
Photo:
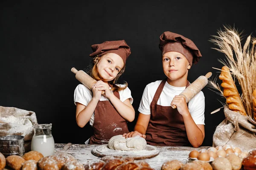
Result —
<instances>
[{"instance_id":1,"label":"round flour-dusted wooden board under the lump of dough","mask_svg":"<svg viewBox=\"0 0 256 170\"><path fill-rule=\"evenodd\" d=\"M131 150L131 151L122 151L122 150L113 150L108 147L108 144L102 144L96 146L92 150L93 155L103 157L103 156L127 156L133 157L135 160L138 159L149 159L157 156L159 150L157 147L148 145L145 147L145 150Z\"/></svg>"}]
</instances>

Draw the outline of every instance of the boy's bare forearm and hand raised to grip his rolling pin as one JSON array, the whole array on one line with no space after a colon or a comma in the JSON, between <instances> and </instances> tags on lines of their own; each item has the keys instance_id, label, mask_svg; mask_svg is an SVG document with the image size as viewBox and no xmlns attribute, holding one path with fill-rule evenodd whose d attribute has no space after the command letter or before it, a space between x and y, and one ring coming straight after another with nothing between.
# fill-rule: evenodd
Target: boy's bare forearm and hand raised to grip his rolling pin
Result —
<instances>
[{"instance_id":1,"label":"boy's bare forearm and hand raised to grip his rolling pin","mask_svg":"<svg viewBox=\"0 0 256 170\"><path fill-rule=\"evenodd\" d=\"M204 141L204 125L196 125L189 113L189 108L186 104L184 96L175 96L171 105L176 105L178 112L183 116L186 133L189 142L193 147L200 147Z\"/></svg>"}]
</instances>

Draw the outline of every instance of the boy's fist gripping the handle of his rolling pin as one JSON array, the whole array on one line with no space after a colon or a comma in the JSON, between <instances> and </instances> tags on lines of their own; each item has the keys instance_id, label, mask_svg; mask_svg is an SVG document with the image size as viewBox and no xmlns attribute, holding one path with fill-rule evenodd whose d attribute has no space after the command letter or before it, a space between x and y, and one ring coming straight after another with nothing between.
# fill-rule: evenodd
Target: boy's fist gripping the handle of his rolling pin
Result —
<instances>
[{"instance_id":1,"label":"boy's fist gripping the handle of his rolling pin","mask_svg":"<svg viewBox=\"0 0 256 170\"><path fill-rule=\"evenodd\" d=\"M171 102L171 105L176 105L178 112L184 116L189 113L189 108L186 104L186 98L183 95L175 96Z\"/></svg>"}]
</instances>

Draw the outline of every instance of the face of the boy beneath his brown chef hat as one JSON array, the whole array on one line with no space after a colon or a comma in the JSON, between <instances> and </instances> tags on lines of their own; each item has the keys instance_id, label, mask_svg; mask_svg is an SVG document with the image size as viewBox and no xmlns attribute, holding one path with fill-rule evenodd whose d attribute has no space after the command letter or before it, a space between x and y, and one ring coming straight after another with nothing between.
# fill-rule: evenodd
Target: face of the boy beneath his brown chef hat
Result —
<instances>
[{"instance_id":1,"label":"face of the boy beneath his brown chef hat","mask_svg":"<svg viewBox=\"0 0 256 170\"><path fill-rule=\"evenodd\" d=\"M170 80L187 79L188 70L191 68L189 61L182 54L170 51L162 57L163 72Z\"/></svg>"}]
</instances>

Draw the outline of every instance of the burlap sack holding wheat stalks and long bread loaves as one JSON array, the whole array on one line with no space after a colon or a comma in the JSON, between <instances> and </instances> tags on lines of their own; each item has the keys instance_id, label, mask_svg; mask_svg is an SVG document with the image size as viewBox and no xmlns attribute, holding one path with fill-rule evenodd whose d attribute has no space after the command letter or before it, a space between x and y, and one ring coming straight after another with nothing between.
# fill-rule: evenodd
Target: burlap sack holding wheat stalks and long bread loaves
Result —
<instances>
[{"instance_id":1,"label":"burlap sack holding wheat stalks and long bread loaves","mask_svg":"<svg viewBox=\"0 0 256 170\"><path fill-rule=\"evenodd\" d=\"M221 122L213 134L213 147L229 144L241 150L256 148L256 122L248 116L224 108L226 119Z\"/></svg>"}]
</instances>

